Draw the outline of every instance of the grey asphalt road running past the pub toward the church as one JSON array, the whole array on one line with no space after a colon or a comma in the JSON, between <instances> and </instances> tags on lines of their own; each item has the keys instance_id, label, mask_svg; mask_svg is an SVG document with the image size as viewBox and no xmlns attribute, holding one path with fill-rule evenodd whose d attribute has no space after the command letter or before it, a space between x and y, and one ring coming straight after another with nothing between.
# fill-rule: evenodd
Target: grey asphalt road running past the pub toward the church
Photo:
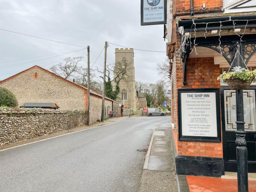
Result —
<instances>
[{"instance_id":1,"label":"grey asphalt road running past the pub toward the church","mask_svg":"<svg viewBox=\"0 0 256 192\"><path fill-rule=\"evenodd\" d=\"M116 119L115 119L116 120ZM0 151L0 191L136 192L146 149L170 117L132 117Z\"/></svg>"}]
</instances>

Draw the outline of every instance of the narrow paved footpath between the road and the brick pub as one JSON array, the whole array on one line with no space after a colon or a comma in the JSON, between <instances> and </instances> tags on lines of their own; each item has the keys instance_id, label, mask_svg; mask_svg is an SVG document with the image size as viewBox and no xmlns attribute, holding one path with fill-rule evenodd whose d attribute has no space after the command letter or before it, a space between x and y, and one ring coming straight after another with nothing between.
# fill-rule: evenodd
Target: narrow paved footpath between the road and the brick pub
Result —
<instances>
[{"instance_id":1,"label":"narrow paved footpath between the road and the brick pub","mask_svg":"<svg viewBox=\"0 0 256 192\"><path fill-rule=\"evenodd\" d=\"M143 167L140 192L176 191L170 122L166 122L155 128L151 137Z\"/></svg>"}]
</instances>

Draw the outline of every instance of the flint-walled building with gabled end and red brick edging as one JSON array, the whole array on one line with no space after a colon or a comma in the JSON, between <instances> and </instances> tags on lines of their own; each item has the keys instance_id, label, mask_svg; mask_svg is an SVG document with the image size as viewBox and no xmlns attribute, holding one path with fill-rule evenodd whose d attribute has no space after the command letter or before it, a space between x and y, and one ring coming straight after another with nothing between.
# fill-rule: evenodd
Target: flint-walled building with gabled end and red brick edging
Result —
<instances>
[{"instance_id":1,"label":"flint-walled building with gabled end and red brick edging","mask_svg":"<svg viewBox=\"0 0 256 192\"><path fill-rule=\"evenodd\" d=\"M0 82L12 91L18 105L56 103L60 110L87 110L87 88L64 79L37 65ZM90 123L101 119L102 95L90 90ZM105 117L118 111L118 103L105 97Z\"/></svg>"}]
</instances>

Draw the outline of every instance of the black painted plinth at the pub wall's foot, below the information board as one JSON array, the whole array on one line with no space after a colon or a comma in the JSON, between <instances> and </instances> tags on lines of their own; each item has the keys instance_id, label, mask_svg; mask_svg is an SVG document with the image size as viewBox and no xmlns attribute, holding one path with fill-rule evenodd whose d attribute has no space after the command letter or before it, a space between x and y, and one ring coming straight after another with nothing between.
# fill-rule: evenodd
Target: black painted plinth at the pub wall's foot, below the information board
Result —
<instances>
[{"instance_id":1,"label":"black painted plinth at the pub wall's foot, below the information board","mask_svg":"<svg viewBox=\"0 0 256 192\"><path fill-rule=\"evenodd\" d=\"M177 175L221 177L224 175L223 158L177 155Z\"/></svg>"}]
</instances>

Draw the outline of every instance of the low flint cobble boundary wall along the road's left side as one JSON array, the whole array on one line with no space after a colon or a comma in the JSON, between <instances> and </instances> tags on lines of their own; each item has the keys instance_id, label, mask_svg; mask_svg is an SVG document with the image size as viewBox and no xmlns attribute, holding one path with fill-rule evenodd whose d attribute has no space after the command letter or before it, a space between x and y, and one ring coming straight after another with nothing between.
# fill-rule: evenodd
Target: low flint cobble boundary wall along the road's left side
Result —
<instances>
[{"instance_id":1,"label":"low flint cobble boundary wall along the road's left side","mask_svg":"<svg viewBox=\"0 0 256 192\"><path fill-rule=\"evenodd\" d=\"M0 145L86 125L84 110L0 108Z\"/></svg>"}]
</instances>

